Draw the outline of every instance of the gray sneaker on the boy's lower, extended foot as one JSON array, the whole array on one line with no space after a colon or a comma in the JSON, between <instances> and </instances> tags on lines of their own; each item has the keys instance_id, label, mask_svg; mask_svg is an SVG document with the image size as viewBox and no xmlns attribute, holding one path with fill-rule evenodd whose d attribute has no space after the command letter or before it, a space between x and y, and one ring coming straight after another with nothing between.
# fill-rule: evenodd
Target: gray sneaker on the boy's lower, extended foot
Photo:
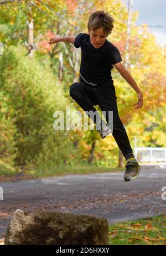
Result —
<instances>
[{"instance_id":1,"label":"gray sneaker on the boy's lower, extended foot","mask_svg":"<svg viewBox=\"0 0 166 256\"><path fill-rule=\"evenodd\" d=\"M128 161L128 163L126 163L125 166L126 166L126 172L124 175L124 180L130 181L130 180L137 179L139 176L139 171L141 170L141 167L139 166L137 161L135 160Z\"/></svg>"}]
</instances>

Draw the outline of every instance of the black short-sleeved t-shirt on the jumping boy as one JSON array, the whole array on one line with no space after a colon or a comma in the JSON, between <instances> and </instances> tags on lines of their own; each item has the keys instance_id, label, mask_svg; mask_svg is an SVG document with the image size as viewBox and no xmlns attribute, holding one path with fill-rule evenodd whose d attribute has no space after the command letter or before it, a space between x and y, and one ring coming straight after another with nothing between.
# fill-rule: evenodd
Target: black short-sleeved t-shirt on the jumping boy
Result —
<instances>
[{"instance_id":1,"label":"black short-sleeved t-shirt on the jumping boy","mask_svg":"<svg viewBox=\"0 0 166 256\"><path fill-rule=\"evenodd\" d=\"M74 46L81 47L80 75L89 83L113 85L112 65L122 61L118 48L107 39L100 48L95 48L86 33L76 36Z\"/></svg>"}]
</instances>

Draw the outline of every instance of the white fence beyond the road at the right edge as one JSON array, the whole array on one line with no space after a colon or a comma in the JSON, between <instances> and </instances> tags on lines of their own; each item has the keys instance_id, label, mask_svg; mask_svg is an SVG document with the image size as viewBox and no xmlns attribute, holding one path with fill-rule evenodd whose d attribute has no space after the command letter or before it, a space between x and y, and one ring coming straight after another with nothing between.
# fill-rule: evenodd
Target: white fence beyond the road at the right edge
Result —
<instances>
[{"instance_id":1,"label":"white fence beyond the road at the right edge","mask_svg":"<svg viewBox=\"0 0 166 256\"><path fill-rule=\"evenodd\" d=\"M166 162L166 147L135 147L134 156L141 162Z\"/></svg>"}]
</instances>

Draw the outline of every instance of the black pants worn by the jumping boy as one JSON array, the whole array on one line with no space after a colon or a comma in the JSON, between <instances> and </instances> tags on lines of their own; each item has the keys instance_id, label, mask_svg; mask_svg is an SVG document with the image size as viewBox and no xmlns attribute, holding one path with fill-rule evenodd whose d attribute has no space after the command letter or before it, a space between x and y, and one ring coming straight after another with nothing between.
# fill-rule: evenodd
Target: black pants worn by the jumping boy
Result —
<instances>
[{"instance_id":1,"label":"black pants worn by the jumping boy","mask_svg":"<svg viewBox=\"0 0 166 256\"><path fill-rule=\"evenodd\" d=\"M90 85L81 77L79 82L70 86L70 96L84 110L96 111L94 105L98 105L101 111L106 111L106 121L108 124L108 110L113 111L113 132L112 135L123 156L127 159L133 156L133 151L128 140L127 132L122 124L117 109L117 97L115 86ZM94 121L94 120L93 120ZM95 121L94 121L95 122Z\"/></svg>"}]
</instances>

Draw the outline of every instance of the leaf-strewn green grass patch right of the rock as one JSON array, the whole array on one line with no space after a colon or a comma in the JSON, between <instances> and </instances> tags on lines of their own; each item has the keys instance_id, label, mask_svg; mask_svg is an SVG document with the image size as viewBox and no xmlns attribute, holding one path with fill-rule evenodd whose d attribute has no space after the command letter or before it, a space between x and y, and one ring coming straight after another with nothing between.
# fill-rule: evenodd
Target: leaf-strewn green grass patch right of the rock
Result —
<instances>
[{"instance_id":1,"label":"leaf-strewn green grass patch right of the rock","mask_svg":"<svg viewBox=\"0 0 166 256\"><path fill-rule=\"evenodd\" d=\"M166 215L109 225L110 245L166 245Z\"/></svg>"}]
</instances>

